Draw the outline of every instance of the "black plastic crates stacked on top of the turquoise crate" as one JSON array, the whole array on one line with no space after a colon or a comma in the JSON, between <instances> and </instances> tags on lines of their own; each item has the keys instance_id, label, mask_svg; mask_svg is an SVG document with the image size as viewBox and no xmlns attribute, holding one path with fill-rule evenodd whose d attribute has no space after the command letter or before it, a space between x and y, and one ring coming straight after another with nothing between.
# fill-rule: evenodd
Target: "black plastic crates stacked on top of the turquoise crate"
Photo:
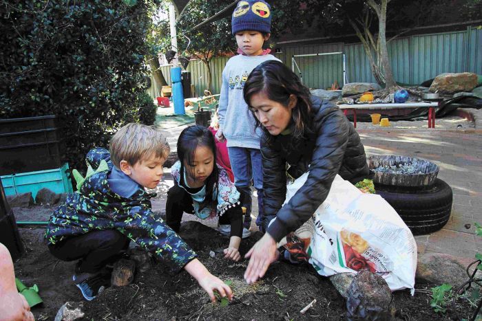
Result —
<instances>
[{"instance_id":1,"label":"black plastic crates stacked on top of the turquoise crate","mask_svg":"<svg viewBox=\"0 0 482 321\"><path fill-rule=\"evenodd\" d=\"M0 119L0 175L59 168L63 153L54 115Z\"/></svg>"}]
</instances>

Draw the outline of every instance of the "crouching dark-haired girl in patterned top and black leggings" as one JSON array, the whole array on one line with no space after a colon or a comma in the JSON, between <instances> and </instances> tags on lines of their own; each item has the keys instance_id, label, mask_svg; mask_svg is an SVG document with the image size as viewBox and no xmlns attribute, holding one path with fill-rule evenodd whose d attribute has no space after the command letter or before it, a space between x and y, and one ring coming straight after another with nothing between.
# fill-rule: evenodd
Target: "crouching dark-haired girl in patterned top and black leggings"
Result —
<instances>
[{"instance_id":1,"label":"crouching dark-haired girl in patterned top and black leggings","mask_svg":"<svg viewBox=\"0 0 482 321\"><path fill-rule=\"evenodd\" d=\"M219 230L231 236L224 257L240 259L243 233L240 193L224 168L216 164L216 144L209 129L189 126L178 139L179 160L171 168L174 186L167 192L166 223L179 232L183 212L200 219L219 217ZM244 235L243 235L244 234Z\"/></svg>"}]
</instances>

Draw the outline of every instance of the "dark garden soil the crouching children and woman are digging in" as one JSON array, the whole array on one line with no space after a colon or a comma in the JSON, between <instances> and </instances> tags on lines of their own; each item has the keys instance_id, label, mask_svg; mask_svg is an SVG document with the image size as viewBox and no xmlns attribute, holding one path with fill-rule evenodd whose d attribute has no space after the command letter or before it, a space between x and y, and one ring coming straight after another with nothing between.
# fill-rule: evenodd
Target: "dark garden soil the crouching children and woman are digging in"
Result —
<instances>
[{"instance_id":1,"label":"dark garden soil the crouching children and woman are digging in","mask_svg":"<svg viewBox=\"0 0 482 321\"><path fill-rule=\"evenodd\" d=\"M32 211L35 208L40 209ZM28 252L15 263L15 272L25 285L39 286L44 303L32 309L36 320L54 320L65 302L83 300L72 283L74 263L50 255L43 242L43 228L19 230ZM235 298L229 305L212 304L189 274L173 276L165 265L156 263L149 271L136 273L131 285L108 288L95 300L85 302L85 320L346 320L344 298L311 265L275 263L259 283L249 286L242 278L247 261L233 263L220 254L229 239L194 221L183 223L180 235L211 273L231 281ZM242 241L241 254L260 237L260 232L255 232ZM216 255L211 257L210 251ZM473 311L465 305L445 315L434 313L428 291L431 286L416 287L419 291L415 296L409 291L393 294L392 320L461 320ZM313 308L300 314L314 298Z\"/></svg>"}]
</instances>

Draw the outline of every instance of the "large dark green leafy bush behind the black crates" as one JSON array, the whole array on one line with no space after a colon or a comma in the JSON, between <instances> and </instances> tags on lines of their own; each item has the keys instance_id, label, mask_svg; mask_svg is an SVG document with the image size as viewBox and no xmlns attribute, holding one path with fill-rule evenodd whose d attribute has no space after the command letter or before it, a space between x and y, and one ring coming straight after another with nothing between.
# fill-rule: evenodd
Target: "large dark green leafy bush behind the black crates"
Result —
<instances>
[{"instance_id":1,"label":"large dark green leafy bush behind the black crates","mask_svg":"<svg viewBox=\"0 0 482 321\"><path fill-rule=\"evenodd\" d=\"M0 118L57 115L78 168L137 118L158 1L0 0Z\"/></svg>"}]
</instances>

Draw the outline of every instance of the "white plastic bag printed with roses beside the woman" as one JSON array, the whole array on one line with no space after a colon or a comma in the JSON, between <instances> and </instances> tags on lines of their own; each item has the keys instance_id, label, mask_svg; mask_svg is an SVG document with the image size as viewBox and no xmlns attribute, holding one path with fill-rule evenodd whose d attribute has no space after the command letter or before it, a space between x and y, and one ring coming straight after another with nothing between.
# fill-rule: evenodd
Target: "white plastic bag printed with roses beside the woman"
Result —
<instances>
[{"instance_id":1,"label":"white plastic bag printed with roses beside the woman","mask_svg":"<svg viewBox=\"0 0 482 321\"><path fill-rule=\"evenodd\" d=\"M308 177L287 186L286 201ZM365 194L336 175L328 197L304 225L278 243L322 276L363 269L383 277L392 291L415 291L417 244L397 212L379 195Z\"/></svg>"}]
</instances>

